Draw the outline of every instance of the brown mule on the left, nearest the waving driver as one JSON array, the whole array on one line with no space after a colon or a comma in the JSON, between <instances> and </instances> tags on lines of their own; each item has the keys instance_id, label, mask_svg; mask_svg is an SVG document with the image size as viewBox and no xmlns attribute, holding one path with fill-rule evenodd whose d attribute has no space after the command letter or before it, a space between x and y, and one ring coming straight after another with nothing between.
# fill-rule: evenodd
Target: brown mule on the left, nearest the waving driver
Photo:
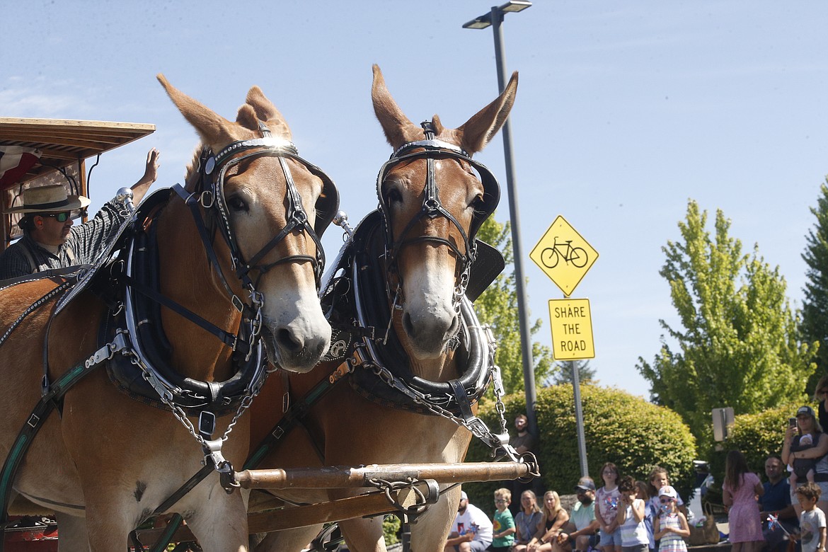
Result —
<instances>
[{"instance_id":1,"label":"brown mule on the left, nearest the waving driver","mask_svg":"<svg viewBox=\"0 0 828 552\"><path fill-rule=\"evenodd\" d=\"M256 327L268 356L286 370L307 372L330 343L330 325L317 296L318 241L310 239L302 228L282 231L289 222L289 208L299 203L319 207L320 198L335 193L332 183L287 146L272 146L288 143L291 134L282 115L258 87L250 89L237 121L230 122L173 88L162 75L158 79L202 138L186 179L190 199L198 191L197 180L203 171L196 165L202 164L204 169L207 157L199 159L205 148L219 152L232 144L258 141L266 134L262 128L272 133L263 145L242 148L242 155L230 151L224 157L226 164L215 163L214 170L216 174L220 171L222 178L222 198L200 196L202 206L196 209L202 214L212 204L220 203L225 209L217 226L224 221L230 238L222 239L219 229L212 234L217 267L211 264L190 207L180 195L171 194L152 214L160 266L158 289L214 327L229 334L240 331L242 315L229 291L238 305L238 300L250 303L253 294L248 290L253 288L243 288L235 277L237 267L231 266L234 247L238 257L255 264L247 276L263 301ZM251 155L239 161L247 154ZM292 199L288 198L287 174L292 175L296 192ZM306 209L306 213L310 223L320 222L314 209ZM324 227L318 226L317 233L321 229ZM279 235L281 239L272 241ZM0 290L0 328L6 329L56 285L55 281L41 280ZM0 455L4 457L41 398L45 339L52 381L99 348L99 325L107 313L101 300L84 291L50 324L54 307L51 301L26 317L0 346L0 378L4 382ZM171 367L201 382L224 382L233 376L233 350L227 344L169 308L160 309ZM219 417L216 434L224 433L231 417ZM233 464L240 465L248 454L248 419L238 419L224 444L224 458ZM195 418L190 421L197 424ZM22 462L13 489L15 496L56 512L60 550L123 552L128 533L196 473L203 460L200 444L171 412L132 401L113 386L101 365L65 395L60 415L55 413L46 420ZM203 550L235 552L248 550L245 502L242 493L225 492L218 474L210 473L170 511L184 516Z\"/></svg>"}]
</instances>

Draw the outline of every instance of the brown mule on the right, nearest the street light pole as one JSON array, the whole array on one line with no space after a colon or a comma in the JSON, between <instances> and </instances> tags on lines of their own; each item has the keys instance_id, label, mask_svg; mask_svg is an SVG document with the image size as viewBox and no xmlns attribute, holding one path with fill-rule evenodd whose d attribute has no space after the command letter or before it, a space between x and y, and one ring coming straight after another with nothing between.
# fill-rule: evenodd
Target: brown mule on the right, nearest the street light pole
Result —
<instances>
[{"instance_id":1,"label":"brown mule on the right, nearest the street light pole","mask_svg":"<svg viewBox=\"0 0 828 552\"><path fill-rule=\"evenodd\" d=\"M443 151L434 156L433 181L439 204L448 215L422 216L428 199L426 182L431 162L425 156L407 157L386 166L378 183L383 217L387 219L389 240L394 247L388 253L392 258L383 257L380 252L366 263L392 265L392 270L386 273L387 281L380 282L381 288L389 286L391 295L386 298L383 290L379 291L383 300L388 301L387 308L395 297L400 307L391 307L390 332L402 344L412 374L431 382L447 382L460 376L459 362L450 346L460 324L458 281L465 272L463 260L469 255L469 238L474 238L482 219L491 214L494 209L491 202L496 203L496 199L489 197L492 190L487 190L474 174L470 160L445 152L462 148L471 155L482 150L507 118L516 90L517 74L514 74L503 94L461 127L445 128L436 116L432 120L433 138L440 142L440 151ZM421 153L425 148L417 144L429 137L402 113L376 65L372 96L374 112L394 150ZM397 284L399 293L393 291ZM378 329L378 337L384 331L385 328ZM290 395L305 396L338 365L339 362L323 362L309 374L291 374L286 378ZM271 378L262 391L263 396L253 404L253 444L263 439L279 420L275 410L267 406L282 404L282 396L288 391L284 380ZM258 467L455 463L465 458L472 436L469 430L439 415L397 410L369 401L348 382L337 384L315 402L302 425L304 428L296 428L282 437ZM286 501L307 503L346 497L357 491L290 489L274 493ZM459 501L460 488L455 487L429 507L412 526L412 550L443 550ZM349 550L385 550L381 518L343 521L340 527ZM301 550L319 529L311 526L272 533L256 550Z\"/></svg>"}]
</instances>

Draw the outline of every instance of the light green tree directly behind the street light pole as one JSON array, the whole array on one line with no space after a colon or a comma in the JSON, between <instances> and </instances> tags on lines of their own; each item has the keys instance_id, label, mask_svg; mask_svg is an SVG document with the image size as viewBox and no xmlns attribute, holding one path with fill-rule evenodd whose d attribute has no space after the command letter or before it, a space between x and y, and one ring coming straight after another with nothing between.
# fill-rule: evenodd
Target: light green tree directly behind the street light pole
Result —
<instances>
[{"instance_id":1,"label":"light green tree directly behind the street light pole","mask_svg":"<svg viewBox=\"0 0 828 552\"><path fill-rule=\"evenodd\" d=\"M495 361L503 376L503 387L507 393L523 389L523 364L520 342L520 324L517 315L517 295L515 294L515 274L509 271L512 266L512 239L509 223L498 223L489 217L480 227L478 239L498 249L506 260L507 270L503 271L489 286L489 289L474 301L474 310L480 322L492 327L498 343ZM532 325L531 335L541 329L541 319ZM532 343L532 360L535 364L535 382L543 382L552 369L550 348L541 343Z\"/></svg>"}]
</instances>

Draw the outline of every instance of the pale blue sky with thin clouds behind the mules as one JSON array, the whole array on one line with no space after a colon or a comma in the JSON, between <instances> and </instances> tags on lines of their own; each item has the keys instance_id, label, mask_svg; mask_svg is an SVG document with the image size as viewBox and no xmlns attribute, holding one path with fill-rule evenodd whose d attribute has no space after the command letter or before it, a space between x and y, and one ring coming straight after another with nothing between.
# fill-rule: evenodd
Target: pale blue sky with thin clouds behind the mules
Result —
<instances>
[{"instance_id":1,"label":"pale blue sky with thin clouds behind the mules","mask_svg":"<svg viewBox=\"0 0 828 552\"><path fill-rule=\"evenodd\" d=\"M161 150L156 187L180 182L195 132L155 79L226 118L253 84L301 154L339 185L352 222L376 205L390 154L370 102L371 65L414 121L457 127L497 95L491 29L461 28L490 2L7 2L0 115L152 122L103 156L93 207ZM828 174L826 2L539 0L503 24L520 228L532 319L561 291L529 259L562 214L600 257L572 295L590 299L604 385L647 396L639 356L676 322L662 246L688 199L779 266L793 305L805 281L809 208ZM478 159L502 185L499 137ZM498 220L508 218L505 200ZM338 233L325 236L329 252Z\"/></svg>"}]
</instances>

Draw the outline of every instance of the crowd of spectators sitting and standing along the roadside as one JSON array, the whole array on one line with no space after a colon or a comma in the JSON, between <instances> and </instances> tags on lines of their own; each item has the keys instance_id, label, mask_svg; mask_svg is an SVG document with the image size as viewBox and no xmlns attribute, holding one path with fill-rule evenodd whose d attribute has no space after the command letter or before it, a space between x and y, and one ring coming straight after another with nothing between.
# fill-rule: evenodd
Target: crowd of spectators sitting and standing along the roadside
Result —
<instances>
[{"instance_id":1,"label":"crowd of spectators sitting and standing along the roadside","mask_svg":"<svg viewBox=\"0 0 828 552\"><path fill-rule=\"evenodd\" d=\"M766 481L749 470L744 454L725 460L722 502L728 511L733 552L825 552L828 508L828 376L816 387L818 413L801 406L788 420L781 454L764 463ZM526 417L518 416L522 451L530 451ZM538 504L535 490L513 485L494 492L493 519L469 504L465 492L445 552L683 552L693 526L692 512L672 487L664 468L647 481L622 475L604 463L595 480L575 483L575 505L566 511L558 492ZM513 491L517 504L512 504ZM511 509L510 509L511 506Z\"/></svg>"}]
</instances>

